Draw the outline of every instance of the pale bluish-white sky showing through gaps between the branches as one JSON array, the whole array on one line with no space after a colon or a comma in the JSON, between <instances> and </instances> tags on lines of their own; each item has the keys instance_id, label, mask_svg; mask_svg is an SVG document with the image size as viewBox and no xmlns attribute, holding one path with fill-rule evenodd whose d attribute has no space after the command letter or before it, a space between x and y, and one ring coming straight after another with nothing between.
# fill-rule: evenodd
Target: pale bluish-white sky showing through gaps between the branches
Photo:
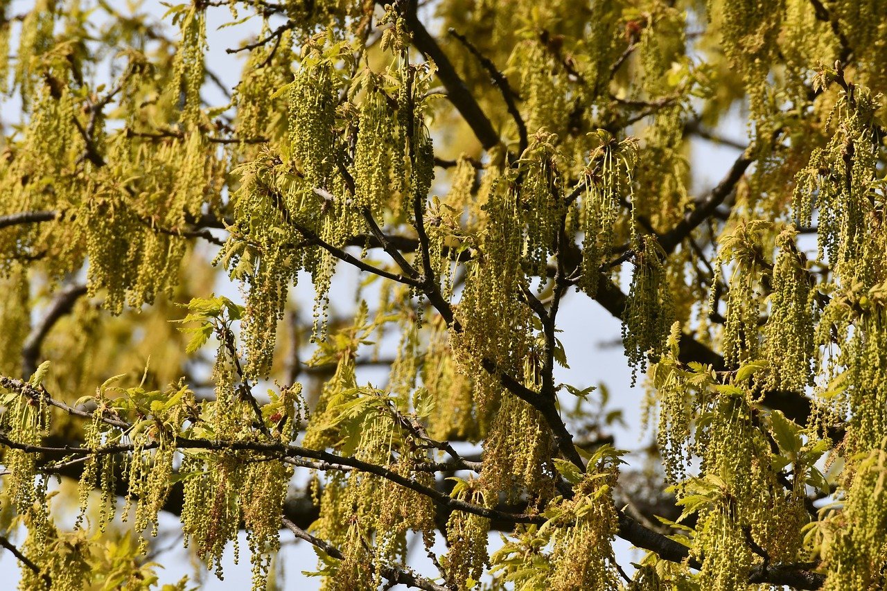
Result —
<instances>
[{"instance_id":1,"label":"pale bluish-white sky showing through gaps between the branches","mask_svg":"<svg viewBox=\"0 0 887 591\"><path fill-rule=\"evenodd\" d=\"M17 0L12 4L12 13L20 13L29 10L33 2ZM122 12L128 12L127 7L130 3L125 0L111 0L108 4L119 7L119 10ZM167 8L156 0L146 0L142 4L142 10L150 12L160 19ZM226 8L211 9L208 12L209 51L207 67L218 75L227 88L232 89L239 81L243 64L242 56L245 53L232 55L224 50L238 46L239 42L251 32L255 32L261 23L258 19L255 19L235 28L218 29L220 25L230 20L231 14ZM424 19L424 21L428 23L429 28L434 29L433 19ZM169 20L167 25L169 26ZM171 36L177 35L171 28L169 33ZM13 39L12 47L14 48L15 46L16 40ZM205 85L203 97L210 104L214 105L224 104L225 102L222 92L212 83ZM6 102L0 103L0 105L2 105L0 116L2 116L4 126L19 119L20 108L14 99L6 100ZM740 141L746 137L745 125L739 114L729 119L718 131L728 138L735 138ZM715 185L724 176L726 170L733 164L738 151L729 146L718 146L699 139L692 141L691 149L692 170L695 175L693 178L693 194L698 196ZM216 247L202 243L200 248L205 248L208 260L215 254ZM624 264L624 286L628 285L628 280L630 279L628 273L630 272L631 264ZM330 296L333 308L331 316L349 314L349 310L354 305L356 282L357 273L353 272L348 265L340 265L333 281ZM216 285L216 293L242 302L242 296L239 295L237 286L227 282L224 274L221 273ZM294 298L297 302L303 303L302 309L310 310L313 302L313 290L310 288L310 281L304 280L300 283L294 290ZM639 450L646 447L650 435L649 433L646 435L642 434L640 429L641 401L643 398L643 388L640 384L642 381L639 379L639 385L635 388L631 387L631 370L627 365L621 344L621 323L614 319L607 311L603 310L600 305L594 303L588 297L579 294L570 294L563 299L558 319L560 328L563 331L559 338L564 345L565 351L567 351L570 368L565 369L557 366L555 379L578 388L585 388L586 386L600 383L605 384L610 393L609 407L621 409L624 416L625 426L614 425L612 429L616 437L616 447L626 450ZM358 373L358 382L370 381L378 384L384 382L384 380L385 374L379 370L362 369ZM632 456L629 456L627 459L631 462ZM635 456L633 459L637 461L638 457ZM155 558L156 562L163 565L163 569L158 571L161 583L176 582L186 574L193 580L195 567L198 565L192 562L190 552L182 548L181 530L177 516L161 513L160 532L160 540L157 541L154 548L170 548ZM440 538L439 535L438 538ZM239 541L241 548L240 563L233 563L232 548L228 548L224 560L224 580L218 580L214 574L207 574L205 571L201 572L197 568L196 572L201 572L201 588L216 590L241 589L251 586L246 536L241 533ZM279 567L282 568L283 574L286 577L283 588L294 591L317 589L319 587L319 579L308 578L301 573L303 570L313 570L317 563L316 556L310 545L307 542L293 540L293 537L287 531L281 532L281 545ZM640 552L632 551L630 545L620 539L616 539L615 546L618 562L627 571L632 571L629 563L639 559L642 556ZM491 551L495 547L498 547L497 532L491 534ZM436 575L434 566L428 561L422 548L418 548L418 550L411 553L412 556L409 561L411 566L420 573L433 578ZM443 552L443 545L439 543L436 550L438 553ZM18 571L19 564L15 558L8 552L0 552L0 572L5 573L4 580L0 582L0 587L13 587L18 581Z\"/></svg>"}]
</instances>

